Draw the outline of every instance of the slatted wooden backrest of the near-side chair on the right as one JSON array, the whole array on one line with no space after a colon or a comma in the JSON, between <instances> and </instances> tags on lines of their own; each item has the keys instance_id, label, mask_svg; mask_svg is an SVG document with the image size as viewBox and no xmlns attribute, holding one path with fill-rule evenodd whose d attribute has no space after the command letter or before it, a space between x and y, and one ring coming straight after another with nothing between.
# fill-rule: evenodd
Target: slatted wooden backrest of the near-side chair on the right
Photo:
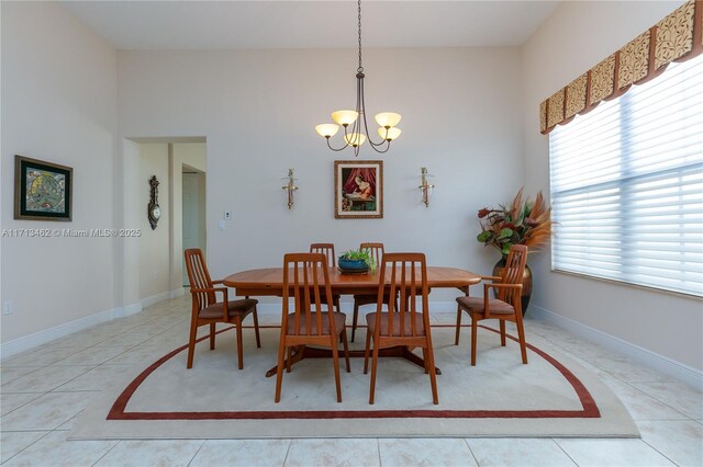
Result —
<instances>
[{"instance_id":1,"label":"slatted wooden backrest of the near-side chair on the right","mask_svg":"<svg viewBox=\"0 0 703 467\"><path fill-rule=\"evenodd\" d=\"M381 307L383 305L384 289L383 283L390 284L389 295L391 297L399 294L400 301L395 309L395 300L388 300L388 311L393 316L398 311L399 322L394 319L388 320L388 332L381 335L398 335L401 338L415 338L423 335L417 332L417 314L422 314L424 329L429 330L429 301L427 287L427 264L424 253L384 253L381 259L381 270L379 274L379 291L377 299L377 330L380 329ZM421 299L421 309L417 309L417 296ZM397 327L397 324L399 324ZM377 331L378 332L378 331Z\"/></svg>"}]
</instances>

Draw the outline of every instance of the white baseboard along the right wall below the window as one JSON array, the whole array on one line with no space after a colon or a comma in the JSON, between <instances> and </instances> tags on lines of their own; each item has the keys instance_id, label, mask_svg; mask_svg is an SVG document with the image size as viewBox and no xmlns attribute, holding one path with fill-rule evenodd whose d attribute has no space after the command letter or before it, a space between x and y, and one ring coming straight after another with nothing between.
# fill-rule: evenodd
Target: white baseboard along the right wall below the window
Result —
<instances>
[{"instance_id":1,"label":"white baseboard along the right wall below the window","mask_svg":"<svg viewBox=\"0 0 703 467\"><path fill-rule=\"evenodd\" d=\"M591 328L570 318L566 318L534 304L529 305L529 314L558 326L559 328L566 329L576 335L623 354L649 368L677 378L698 390L703 390L703 372L689 365L668 358L606 332L599 331L598 329Z\"/></svg>"}]
</instances>

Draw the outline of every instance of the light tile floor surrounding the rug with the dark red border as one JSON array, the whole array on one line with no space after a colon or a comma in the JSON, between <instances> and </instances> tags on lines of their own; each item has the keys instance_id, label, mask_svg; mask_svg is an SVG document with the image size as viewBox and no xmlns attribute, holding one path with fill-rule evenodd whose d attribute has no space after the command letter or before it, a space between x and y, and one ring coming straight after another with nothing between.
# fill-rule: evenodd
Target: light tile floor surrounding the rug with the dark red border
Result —
<instances>
[{"instance_id":1,"label":"light tile floor surrounding the rug with the dark red border","mask_svg":"<svg viewBox=\"0 0 703 467\"><path fill-rule=\"evenodd\" d=\"M633 415L641 440L337 438L67 441L74 421L131 365L187 339L189 297L0 363L0 460L8 466L703 466L703 395L527 315L528 341L590 368ZM263 315L260 322L278 322ZM454 314L433 315L453 323ZM468 321L468 319L467 319ZM204 330L203 330L204 332ZM470 343L464 331L461 346Z\"/></svg>"}]
</instances>

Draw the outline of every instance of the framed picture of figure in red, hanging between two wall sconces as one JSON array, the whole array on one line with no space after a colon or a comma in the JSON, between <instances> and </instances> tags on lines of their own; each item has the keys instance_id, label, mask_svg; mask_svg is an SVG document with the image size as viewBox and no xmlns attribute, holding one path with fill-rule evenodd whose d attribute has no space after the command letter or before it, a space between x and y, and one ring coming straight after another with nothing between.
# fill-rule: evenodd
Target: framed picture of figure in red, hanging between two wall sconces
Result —
<instances>
[{"instance_id":1,"label":"framed picture of figure in red, hanging between two wall sconces","mask_svg":"<svg viewBox=\"0 0 703 467\"><path fill-rule=\"evenodd\" d=\"M383 217L383 161L334 161L334 217Z\"/></svg>"}]
</instances>

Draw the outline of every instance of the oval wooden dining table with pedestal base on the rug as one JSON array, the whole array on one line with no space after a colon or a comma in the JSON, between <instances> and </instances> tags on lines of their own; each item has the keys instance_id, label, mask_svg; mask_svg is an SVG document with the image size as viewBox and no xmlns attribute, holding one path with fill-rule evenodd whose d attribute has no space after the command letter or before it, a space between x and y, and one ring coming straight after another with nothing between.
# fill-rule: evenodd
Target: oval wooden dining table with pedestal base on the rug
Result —
<instances>
[{"instance_id":1,"label":"oval wooden dining table with pedestal base on the rug","mask_svg":"<svg viewBox=\"0 0 703 467\"><path fill-rule=\"evenodd\" d=\"M458 288L468 294L469 286L481 282L481 276L469 271L456 267L427 266L427 286L432 288ZM237 296L248 297L282 297L283 296L283 269L266 267L242 271L225 277L222 283L235 289ZM378 293L380 283L379 273L348 274L338 269L330 269L330 286L334 295L372 295ZM390 271L387 271L384 284L390 283ZM303 358L330 357L326 349L303 348L293 353L291 364ZM362 350L349 351L349 356L364 356ZM400 356L422 367L423 358L408 348L382 349L379 356ZM439 368L435 368L442 374ZM266 373L266 376L276 374L276 367Z\"/></svg>"}]
</instances>

